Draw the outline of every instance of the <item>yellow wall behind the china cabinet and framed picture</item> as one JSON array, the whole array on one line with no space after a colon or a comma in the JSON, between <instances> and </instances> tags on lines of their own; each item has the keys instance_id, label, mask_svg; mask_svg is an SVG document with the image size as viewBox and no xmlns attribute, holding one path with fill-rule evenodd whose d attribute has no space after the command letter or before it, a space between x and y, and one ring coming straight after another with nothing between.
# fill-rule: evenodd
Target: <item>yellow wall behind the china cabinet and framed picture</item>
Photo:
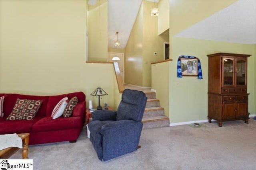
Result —
<instances>
[{"instance_id":1,"label":"yellow wall behind the china cabinet and framed picture","mask_svg":"<svg viewBox=\"0 0 256 170\"><path fill-rule=\"evenodd\" d=\"M170 122L206 120L208 113L208 54L251 54L248 58L249 112L255 114L255 45L185 39L175 37L173 61L170 62ZM201 61L203 79L197 77L177 78L177 60L180 55L192 55ZM178 82L179 86L176 86Z\"/></svg>"}]
</instances>

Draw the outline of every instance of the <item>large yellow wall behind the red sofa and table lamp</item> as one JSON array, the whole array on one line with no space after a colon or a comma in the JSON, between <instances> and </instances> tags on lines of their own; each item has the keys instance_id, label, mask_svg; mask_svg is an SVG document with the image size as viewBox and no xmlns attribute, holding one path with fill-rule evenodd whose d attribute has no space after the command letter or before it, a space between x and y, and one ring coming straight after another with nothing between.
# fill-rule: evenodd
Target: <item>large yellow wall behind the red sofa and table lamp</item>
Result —
<instances>
[{"instance_id":1,"label":"large yellow wall behind the red sofa and table lamp","mask_svg":"<svg viewBox=\"0 0 256 170\"><path fill-rule=\"evenodd\" d=\"M1 0L0 49L0 92L82 91L96 107L100 86L114 106L113 64L86 64L86 1Z\"/></svg>"}]
</instances>

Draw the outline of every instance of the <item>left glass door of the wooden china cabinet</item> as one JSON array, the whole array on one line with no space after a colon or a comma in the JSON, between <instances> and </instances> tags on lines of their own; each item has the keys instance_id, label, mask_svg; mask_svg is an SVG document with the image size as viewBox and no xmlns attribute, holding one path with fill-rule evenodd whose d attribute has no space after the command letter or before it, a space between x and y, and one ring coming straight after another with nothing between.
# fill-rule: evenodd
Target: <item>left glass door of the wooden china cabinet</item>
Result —
<instances>
[{"instance_id":1,"label":"left glass door of the wooden china cabinet","mask_svg":"<svg viewBox=\"0 0 256 170\"><path fill-rule=\"evenodd\" d=\"M223 85L234 85L234 59L223 58Z\"/></svg>"}]
</instances>

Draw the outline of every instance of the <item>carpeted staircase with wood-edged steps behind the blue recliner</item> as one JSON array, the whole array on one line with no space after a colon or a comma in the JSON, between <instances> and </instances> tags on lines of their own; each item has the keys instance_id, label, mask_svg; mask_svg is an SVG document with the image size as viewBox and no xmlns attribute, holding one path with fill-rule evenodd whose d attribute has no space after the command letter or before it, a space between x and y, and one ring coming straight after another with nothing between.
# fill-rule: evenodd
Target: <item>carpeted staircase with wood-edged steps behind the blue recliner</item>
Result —
<instances>
[{"instance_id":1,"label":"carpeted staircase with wood-edged steps behind the blue recliner","mask_svg":"<svg viewBox=\"0 0 256 170\"><path fill-rule=\"evenodd\" d=\"M148 97L148 100L142 117L143 129L169 126L170 120L164 115L164 108L160 107L160 101L156 99L156 93L144 93Z\"/></svg>"}]
</instances>

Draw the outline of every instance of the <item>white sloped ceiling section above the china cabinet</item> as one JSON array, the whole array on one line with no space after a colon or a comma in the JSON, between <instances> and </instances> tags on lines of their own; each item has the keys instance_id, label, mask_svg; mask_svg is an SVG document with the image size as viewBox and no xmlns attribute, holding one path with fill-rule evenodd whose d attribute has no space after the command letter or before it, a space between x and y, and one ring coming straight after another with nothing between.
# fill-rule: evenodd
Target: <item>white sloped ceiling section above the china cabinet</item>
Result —
<instances>
[{"instance_id":1,"label":"white sloped ceiling section above the china cabinet","mask_svg":"<svg viewBox=\"0 0 256 170\"><path fill-rule=\"evenodd\" d=\"M256 0L239 0L175 36L256 44Z\"/></svg>"}]
</instances>

